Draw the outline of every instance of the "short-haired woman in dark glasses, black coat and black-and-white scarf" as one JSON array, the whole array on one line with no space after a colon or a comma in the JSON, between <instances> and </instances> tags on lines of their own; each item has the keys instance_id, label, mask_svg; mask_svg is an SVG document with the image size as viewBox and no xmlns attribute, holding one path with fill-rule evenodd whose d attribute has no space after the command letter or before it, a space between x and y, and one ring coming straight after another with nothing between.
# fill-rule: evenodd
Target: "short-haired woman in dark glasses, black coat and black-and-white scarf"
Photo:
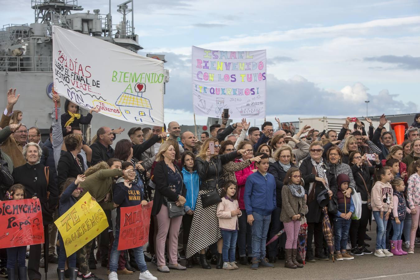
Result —
<instances>
[{"instance_id":1,"label":"short-haired woman in dark glasses, black coat and black-and-white scarf","mask_svg":"<svg viewBox=\"0 0 420 280\"><path fill-rule=\"evenodd\" d=\"M328 196L336 196L337 181L329 167L323 162L323 147L320 141L314 141L309 147L310 157L303 160L299 167L302 179L305 182L304 189L307 194L308 214L306 215L308 224L307 239L307 259L308 262L315 262L315 258L328 261L329 256L323 253L323 233L322 233L322 208L319 206L317 197L321 191L327 190ZM315 257L312 251L312 237L315 239Z\"/></svg>"}]
</instances>

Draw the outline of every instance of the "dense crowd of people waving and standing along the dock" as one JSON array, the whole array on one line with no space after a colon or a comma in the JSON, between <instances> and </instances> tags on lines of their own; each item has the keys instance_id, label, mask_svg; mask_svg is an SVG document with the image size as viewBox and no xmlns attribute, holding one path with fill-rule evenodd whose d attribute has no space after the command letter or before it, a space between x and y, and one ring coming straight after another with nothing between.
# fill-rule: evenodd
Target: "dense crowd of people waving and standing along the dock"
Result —
<instances>
[{"instance_id":1,"label":"dense crowd of people waving and standing along the dock","mask_svg":"<svg viewBox=\"0 0 420 280\"><path fill-rule=\"evenodd\" d=\"M276 127L269 121L250 127L246 119L227 125L226 117L200 139L181 133L176 121L164 128L133 127L129 139L117 141L114 149L123 129L103 126L86 143L80 125L100 110L83 116L77 104L66 100L60 112L57 94L50 136L42 143L39 129L25 126L24 112L13 110L18 98L16 89L8 91L0 120L0 199L39 199L49 246L0 249L1 277L37 280L46 262L58 264L59 280L101 280L92 272L97 265L108 268L109 280L136 271L139 279L154 280L164 274L152 275L151 265L163 273L212 269L210 264L257 270L273 268L280 259L281 266L296 269L331 255L342 261L364 254L414 254L420 222L420 114L401 145L386 131L385 115L377 128L369 118L367 128L346 118L338 133L310 126L296 131L277 118ZM109 228L67 256L54 221L87 192L102 207ZM150 201L147 246L118 250L121 207ZM372 215L375 248L365 243ZM331 223L333 251L325 242L325 219ZM297 249L303 223L306 256ZM273 238L281 230L284 234ZM276 240L266 246L271 239Z\"/></svg>"}]
</instances>

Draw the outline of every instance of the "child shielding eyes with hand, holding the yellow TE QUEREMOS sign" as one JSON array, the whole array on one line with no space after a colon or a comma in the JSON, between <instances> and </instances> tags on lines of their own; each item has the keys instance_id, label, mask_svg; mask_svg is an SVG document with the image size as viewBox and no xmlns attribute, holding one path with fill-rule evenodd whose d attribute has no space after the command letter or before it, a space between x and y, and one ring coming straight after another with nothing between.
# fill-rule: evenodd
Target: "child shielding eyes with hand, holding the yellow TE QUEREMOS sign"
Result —
<instances>
[{"instance_id":1,"label":"child shielding eyes with hand, holding the yellow TE QUEREMOS sign","mask_svg":"<svg viewBox=\"0 0 420 280\"><path fill-rule=\"evenodd\" d=\"M60 196L60 206L58 212L60 216L67 212L76 202L80 193L83 191L79 187L79 183L84 181L84 175L77 175L77 178L68 178L63 184L63 193ZM93 198L92 198L93 199ZM63 238L58 233L58 241L60 241L60 256L58 256L58 267L57 274L58 280L64 280L64 270L66 264L66 250L64 249ZM68 269L70 270L70 280L76 280L77 268L76 268L76 253L68 256Z\"/></svg>"}]
</instances>

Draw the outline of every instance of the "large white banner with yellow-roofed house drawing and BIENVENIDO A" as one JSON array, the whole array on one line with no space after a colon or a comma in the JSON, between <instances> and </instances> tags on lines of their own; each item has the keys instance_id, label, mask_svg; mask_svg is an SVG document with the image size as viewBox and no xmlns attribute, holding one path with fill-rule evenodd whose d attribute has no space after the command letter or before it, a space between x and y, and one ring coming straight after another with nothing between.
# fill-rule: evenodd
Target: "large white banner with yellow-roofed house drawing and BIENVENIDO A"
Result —
<instances>
[{"instance_id":1,"label":"large white banner with yellow-roofed house drawing and BIENVENIDO A","mask_svg":"<svg viewBox=\"0 0 420 280\"><path fill-rule=\"evenodd\" d=\"M53 26L54 89L80 107L163 126L163 78L163 61Z\"/></svg>"}]
</instances>

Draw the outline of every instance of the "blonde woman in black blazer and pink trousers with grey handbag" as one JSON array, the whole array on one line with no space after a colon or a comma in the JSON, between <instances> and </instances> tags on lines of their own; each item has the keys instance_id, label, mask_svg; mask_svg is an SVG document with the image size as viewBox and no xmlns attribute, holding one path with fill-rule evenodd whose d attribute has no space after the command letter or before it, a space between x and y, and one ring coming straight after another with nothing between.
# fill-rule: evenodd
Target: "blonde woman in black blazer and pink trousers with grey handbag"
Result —
<instances>
[{"instance_id":1,"label":"blonde woman in black blazer and pink trousers with grey handbag","mask_svg":"<svg viewBox=\"0 0 420 280\"><path fill-rule=\"evenodd\" d=\"M178 146L178 145L176 145ZM175 148L170 141L165 141L160 146L156 155L156 162L153 174L156 183L155 196L153 198L152 216L156 216L157 236L156 236L156 258L157 270L169 272L169 268L176 270L186 270L186 267L178 264L178 235L181 227L182 215L169 217L168 202L175 202L176 206L184 206L186 188L184 177L176 165ZM169 264L165 265L165 241L168 241Z\"/></svg>"}]
</instances>

